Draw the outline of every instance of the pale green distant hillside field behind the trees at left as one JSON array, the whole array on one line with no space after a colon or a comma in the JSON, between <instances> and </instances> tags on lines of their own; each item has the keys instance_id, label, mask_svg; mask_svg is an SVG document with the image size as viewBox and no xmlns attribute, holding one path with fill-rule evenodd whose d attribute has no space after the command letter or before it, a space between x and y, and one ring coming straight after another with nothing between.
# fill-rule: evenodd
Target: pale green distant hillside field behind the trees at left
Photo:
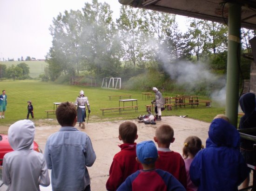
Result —
<instances>
[{"instance_id":1,"label":"pale green distant hillside field behind the trees at left","mask_svg":"<svg viewBox=\"0 0 256 191\"><path fill-rule=\"evenodd\" d=\"M40 74L44 73L44 68L47 66L45 61L10 61L10 62L0 62L0 64L5 64L10 67L12 64L16 66L20 63L26 63L29 67L29 76L30 77L38 77Z\"/></svg>"}]
</instances>

